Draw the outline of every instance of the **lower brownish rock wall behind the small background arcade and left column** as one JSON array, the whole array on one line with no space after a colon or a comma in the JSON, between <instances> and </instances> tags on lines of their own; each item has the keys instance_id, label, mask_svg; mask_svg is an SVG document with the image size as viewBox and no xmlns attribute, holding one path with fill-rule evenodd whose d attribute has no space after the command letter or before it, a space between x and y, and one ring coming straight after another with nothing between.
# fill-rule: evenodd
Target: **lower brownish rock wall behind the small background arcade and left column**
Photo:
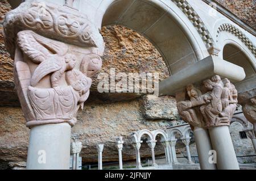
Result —
<instances>
[{"instance_id":1,"label":"lower brownish rock wall behind the small background arcade and left column","mask_svg":"<svg viewBox=\"0 0 256 181\"><path fill-rule=\"evenodd\" d=\"M0 109L0 162L26 161L29 129L21 108L2 107ZM86 104L84 111L77 115L77 123L72 128L73 140L82 142L83 162L97 162L96 144L104 144L103 161L118 161L115 137L123 136L123 160L135 159L135 150L128 138L140 129L165 129L171 121L146 121L141 111L141 100L109 104ZM146 141L146 140L144 140ZM164 154L158 142L155 154ZM141 147L141 157L150 157L146 142ZM1 165L0 164L0 165Z\"/></svg>"}]
</instances>

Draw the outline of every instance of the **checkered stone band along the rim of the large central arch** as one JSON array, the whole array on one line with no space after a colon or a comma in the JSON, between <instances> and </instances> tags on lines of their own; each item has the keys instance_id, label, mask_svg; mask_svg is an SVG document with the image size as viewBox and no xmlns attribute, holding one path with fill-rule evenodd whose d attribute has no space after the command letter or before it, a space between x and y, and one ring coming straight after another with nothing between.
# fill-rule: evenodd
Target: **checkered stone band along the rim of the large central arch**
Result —
<instances>
[{"instance_id":1,"label":"checkered stone band along the rim of the large central arch","mask_svg":"<svg viewBox=\"0 0 256 181\"><path fill-rule=\"evenodd\" d=\"M205 46L207 48L212 47L214 45L212 36L210 35L210 32L207 30L207 27L205 26L204 22L201 20L201 18L193 9L193 7L189 5L189 3L186 0L172 0L172 1L184 12L184 14L192 22L193 26L201 35L205 43Z\"/></svg>"}]
</instances>

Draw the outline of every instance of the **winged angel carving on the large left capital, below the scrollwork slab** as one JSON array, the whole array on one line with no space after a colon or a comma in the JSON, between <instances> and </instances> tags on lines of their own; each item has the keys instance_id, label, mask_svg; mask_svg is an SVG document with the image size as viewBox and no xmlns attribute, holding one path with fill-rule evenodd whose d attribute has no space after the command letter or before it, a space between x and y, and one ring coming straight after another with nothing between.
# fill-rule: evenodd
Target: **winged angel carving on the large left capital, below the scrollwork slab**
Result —
<instances>
[{"instance_id":1,"label":"winged angel carving on the large left capital, below the scrollwork slab","mask_svg":"<svg viewBox=\"0 0 256 181\"><path fill-rule=\"evenodd\" d=\"M27 126L75 124L77 111L83 108L92 84L90 78L74 69L76 56L68 53L67 44L32 31L19 32L17 41L23 60L15 61L15 77L22 90L20 100L24 99L20 102L26 104L23 112L31 114L26 117Z\"/></svg>"}]
</instances>

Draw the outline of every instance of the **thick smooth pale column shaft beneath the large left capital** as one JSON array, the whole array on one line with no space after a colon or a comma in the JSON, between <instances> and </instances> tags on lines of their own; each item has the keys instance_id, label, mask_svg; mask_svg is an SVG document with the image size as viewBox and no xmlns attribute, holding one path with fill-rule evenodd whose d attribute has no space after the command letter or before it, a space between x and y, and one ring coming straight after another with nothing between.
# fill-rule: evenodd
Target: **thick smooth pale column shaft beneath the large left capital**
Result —
<instances>
[{"instance_id":1,"label":"thick smooth pale column shaft beneath the large left capital","mask_svg":"<svg viewBox=\"0 0 256 181\"><path fill-rule=\"evenodd\" d=\"M27 155L28 170L68 170L71 126L68 123L32 127Z\"/></svg>"}]
</instances>

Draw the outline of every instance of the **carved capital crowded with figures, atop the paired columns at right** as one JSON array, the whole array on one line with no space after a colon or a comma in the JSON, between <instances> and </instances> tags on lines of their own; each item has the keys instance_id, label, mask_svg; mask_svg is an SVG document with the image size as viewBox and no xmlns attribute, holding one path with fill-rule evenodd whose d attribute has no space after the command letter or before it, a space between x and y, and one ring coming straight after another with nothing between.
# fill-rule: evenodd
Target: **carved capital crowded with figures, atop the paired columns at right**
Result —
<instances>
[{"instance_id":1,"label":"carved capital crowded with figures, atop the paired columns at right","mask_svg":"<svg viewBox=\"0 0 256 181\"><path fill-rule=\"evenodd\" d=\"M200 88L188 85L185 92L176 95L181 118L192 127L229 125L237 107L236 87L229 79L214 75Z\"/></svg>"}]
</instances>

